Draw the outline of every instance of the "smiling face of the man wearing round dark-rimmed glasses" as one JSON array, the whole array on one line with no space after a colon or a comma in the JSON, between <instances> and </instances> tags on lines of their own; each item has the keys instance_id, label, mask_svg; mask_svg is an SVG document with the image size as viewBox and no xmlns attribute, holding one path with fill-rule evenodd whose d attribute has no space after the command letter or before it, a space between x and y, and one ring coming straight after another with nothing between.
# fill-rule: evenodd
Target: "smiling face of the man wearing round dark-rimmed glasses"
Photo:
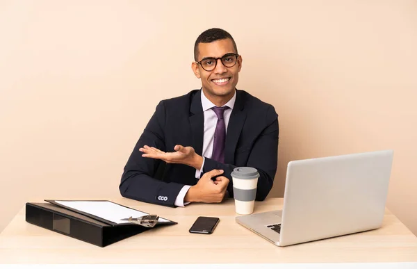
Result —
<instances>
[{"instance_id":1,"label":"smiling face of the man wearing round dark-rimmed glasses","mask_svg":"<svg viewBox=\"0 0 417 269\"><path fill-rule=\"evenodd\" d=\"M211 43L199 43L198 51L198 61L207 57L221 58L225 54L236 54L233 42L229 38ZM193 63L192 67L195 76L202 80L202 87L206 94L212 97L233 97L242 67L240 56L233 67L225 67L220 59L217 60L215 69L212 71L204 70L197 63Z\"/></svg>"}]
</instances>

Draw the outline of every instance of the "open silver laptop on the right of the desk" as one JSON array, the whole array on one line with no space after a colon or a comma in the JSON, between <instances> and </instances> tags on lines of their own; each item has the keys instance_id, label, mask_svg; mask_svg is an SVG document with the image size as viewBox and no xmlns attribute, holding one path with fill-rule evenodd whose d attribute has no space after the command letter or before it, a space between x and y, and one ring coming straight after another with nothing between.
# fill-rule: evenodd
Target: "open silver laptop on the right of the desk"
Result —
<instances>
[{"instance_id":1,"label":"open silver laptop on the right of the desk","mask_svg":"<svg viewBox=\"0 0 417 269\"><path fill-rule=\"evenodd\" d=\"M236 222L279 246L377 229L392 162L392 150L291 161L283 209Z\"/></svg>"}]
</instances>

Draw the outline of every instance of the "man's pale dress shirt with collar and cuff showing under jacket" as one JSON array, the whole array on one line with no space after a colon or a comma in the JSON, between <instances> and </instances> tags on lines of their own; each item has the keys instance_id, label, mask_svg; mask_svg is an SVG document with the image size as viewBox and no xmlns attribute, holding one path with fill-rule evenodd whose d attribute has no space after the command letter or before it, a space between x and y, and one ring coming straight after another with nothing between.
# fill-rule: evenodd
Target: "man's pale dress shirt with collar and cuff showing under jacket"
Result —
<instances>
[{"instance_id":1,"label":"man's pale dress shirt with collar and cuff showing under jacket","mask_svg":"<svg viewBox=\"0 0 417 269\"><path fill-rule=\"evenodd\" d=\"M204 136L203 136L203 164L202 168L199 170L195 170L195 178L199 179L200 175L202 173L203 167L204 167L204 157L211 158L211 154L213 154L213 142L214 142L214 133L215 133L215 127L217 125L218 117L215 115L213 109L215 104L213 104L210 100L207 99L207 97L204 95L203 90L201 90L202 94L202 106L204 111ZM230 109L226 109L223 114L224 118L224 125L226 125L226 133L227 133L227 126L229 125L229 119L231 115L231 111L233 110L234 103L236 101L236 90L234 93L234 96L231 97L231 99L224 104L224 106L229 106ZM186 146L186 145L184 145ZM179 191L179 194L177 196L177 199L175 199L174 205L176 206L184 206L184 197L186 197L186 193L188 192L188 189L190 189L191 186L186 185L181 188ZM189 204L189 203L186 203Z\"/></svg>"}]
</instances>

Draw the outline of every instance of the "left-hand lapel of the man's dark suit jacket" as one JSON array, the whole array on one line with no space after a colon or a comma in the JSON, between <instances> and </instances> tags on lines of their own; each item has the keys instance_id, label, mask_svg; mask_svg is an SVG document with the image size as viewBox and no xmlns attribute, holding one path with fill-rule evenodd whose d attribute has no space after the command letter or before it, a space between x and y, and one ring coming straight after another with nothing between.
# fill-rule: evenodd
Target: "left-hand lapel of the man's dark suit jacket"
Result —
<instances>
[{"instance_id":1,"label":"left-hand lapel of the man's dark suit jacket","mask_svg":"<svg viewBox=\"0 0 417 269\"><path fill-rule=\"evenodd\" d=\"M203 136L204 136L204 113L202 106L201 90L197 91L191 99L190 104L190 125L193 136L191 145L199 156L203 154Z\"/></svg>"}]
</instances>

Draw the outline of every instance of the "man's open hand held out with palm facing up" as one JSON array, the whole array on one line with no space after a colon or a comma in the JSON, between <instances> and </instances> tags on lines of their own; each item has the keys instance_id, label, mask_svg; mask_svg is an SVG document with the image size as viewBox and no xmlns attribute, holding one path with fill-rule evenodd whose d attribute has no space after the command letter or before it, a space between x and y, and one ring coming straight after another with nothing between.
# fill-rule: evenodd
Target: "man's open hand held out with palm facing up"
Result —
<instances>
[{"instance_id":1,"label":"man's open hand held out with palm facing up","mask_svg":"<svg viewBox=\"0 0 417 269\"><path fill-rule=\"evenodd\" d=\"M174 147L175 152L163 152L156 147L148 147L145 145L141 147L139 151L144 153L142 154L142 157L145 158L157 158L166 163L181 163L189 165L197 170L200 170L203 164L203 157L196 154L193 147L176 145Z\"/></svg>"}]
</instances>

